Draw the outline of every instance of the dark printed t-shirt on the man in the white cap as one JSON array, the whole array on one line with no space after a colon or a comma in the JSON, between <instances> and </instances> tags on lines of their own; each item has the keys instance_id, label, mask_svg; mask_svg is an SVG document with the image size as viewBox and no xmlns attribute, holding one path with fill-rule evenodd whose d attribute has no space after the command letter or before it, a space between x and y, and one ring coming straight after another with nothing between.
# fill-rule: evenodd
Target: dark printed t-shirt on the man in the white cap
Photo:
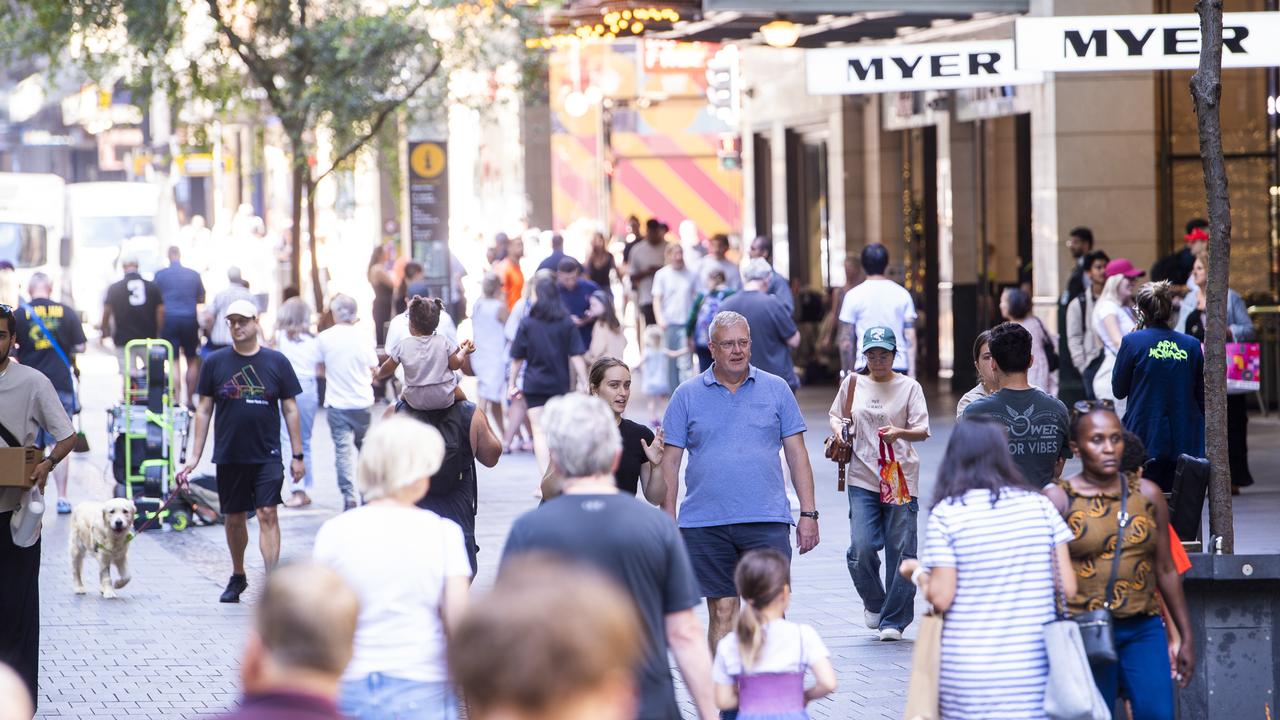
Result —
<instances>
[{"instance_id":1,"label":"dark printed t-shirt on the man in the white cap","mask_svg":"<svg viewBox=\"0 0 1280 720\"><path fill-rule=\"evenodd\" d=\"M214 351L200 366L197 392L214 398L214 462L280 461L280 400L302 393L283 354L261 347Z\"/></svg>"}]
</instances>

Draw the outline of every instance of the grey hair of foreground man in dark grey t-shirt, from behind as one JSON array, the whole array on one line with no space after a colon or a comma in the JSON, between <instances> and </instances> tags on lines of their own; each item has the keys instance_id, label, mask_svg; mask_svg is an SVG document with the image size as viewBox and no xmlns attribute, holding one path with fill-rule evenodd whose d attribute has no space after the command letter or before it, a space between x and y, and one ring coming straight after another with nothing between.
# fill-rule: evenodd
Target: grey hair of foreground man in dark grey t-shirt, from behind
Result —
<instances>
[{"instance_id":1,"label":"grey hair of foreground man in dark grey t-shirt, from behind","mask_svg":"<svg viewBox=\"0 0 1280 720\"><path fill-rule=\"evenodd\" d=\"M622 436L613 410L603 400L579 393L554 397L543 411L541 424L552 462L562 477L613 473Z\"/></svg>"}]
</instances>

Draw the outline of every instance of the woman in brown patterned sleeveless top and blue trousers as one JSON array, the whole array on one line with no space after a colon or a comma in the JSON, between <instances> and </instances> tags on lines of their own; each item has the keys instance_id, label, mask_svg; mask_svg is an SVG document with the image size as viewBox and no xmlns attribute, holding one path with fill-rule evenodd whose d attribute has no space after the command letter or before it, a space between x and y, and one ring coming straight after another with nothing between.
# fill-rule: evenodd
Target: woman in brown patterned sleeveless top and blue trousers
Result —
<instances>
[{"instance_id":1,"label":"woman in brown patterned sleeveless top and blue trousers","mask_svg":"<svg viewBox=\"0 0 1280 720\"><path fill-rule=\"evenodd\" d=\"M1075 409L1070 438L1080 474L1044 488L1074 534L1070 553L1078 592L1070 610L1111 614L1119 661L1093 667L1107 707L1115 707L1124 685L1133 720L1171 720L1170 678L1187 687L1196 648L1169 547L1169 505L1156 483L1121 471L1124 427L1111 404L1082 401ZM1183 638L1172 669L1156 591Z\"/></svg>"}]
</instances>

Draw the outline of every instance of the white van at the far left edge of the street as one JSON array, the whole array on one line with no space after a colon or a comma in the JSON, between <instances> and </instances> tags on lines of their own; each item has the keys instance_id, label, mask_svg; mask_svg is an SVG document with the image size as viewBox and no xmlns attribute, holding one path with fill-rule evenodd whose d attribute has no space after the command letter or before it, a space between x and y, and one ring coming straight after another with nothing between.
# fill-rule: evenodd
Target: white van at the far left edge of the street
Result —
<instances>
[{"instance_id":1,"label":"white van at the far left edge of the street","mask_svg":"<svg viewBox=\"0 0 1280 720\"><path fill-rule=\"evenodd\" d=\"M37 272L54 281L54 297L65 295L65 187L58 176L0 173L0 260L13 263L23 296Z\"/></svg>"}]
</instances>

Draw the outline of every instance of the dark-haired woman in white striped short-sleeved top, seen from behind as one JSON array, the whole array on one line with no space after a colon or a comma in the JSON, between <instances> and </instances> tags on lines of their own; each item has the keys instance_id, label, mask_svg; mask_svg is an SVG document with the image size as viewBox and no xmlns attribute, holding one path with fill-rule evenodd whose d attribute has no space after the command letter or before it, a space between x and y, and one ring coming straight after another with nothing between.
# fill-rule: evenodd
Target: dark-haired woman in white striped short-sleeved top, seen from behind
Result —
<instances>
[{"instance_id":1,"label":"dark-haired woman in white striped short-sleeved top, seen from behind","mask_svg":"<svg viewBox=\"0 0 1280 720\"><path fill-rule=\"evenodd\" d=\"M1075 594L1070 539L1014 465L1004 424L961 420L938 466L924 555L900 569L946 612L943 719L1044 717L1042 625L1053 619L1055 583Z\"/></svg>"}]
</instances>

